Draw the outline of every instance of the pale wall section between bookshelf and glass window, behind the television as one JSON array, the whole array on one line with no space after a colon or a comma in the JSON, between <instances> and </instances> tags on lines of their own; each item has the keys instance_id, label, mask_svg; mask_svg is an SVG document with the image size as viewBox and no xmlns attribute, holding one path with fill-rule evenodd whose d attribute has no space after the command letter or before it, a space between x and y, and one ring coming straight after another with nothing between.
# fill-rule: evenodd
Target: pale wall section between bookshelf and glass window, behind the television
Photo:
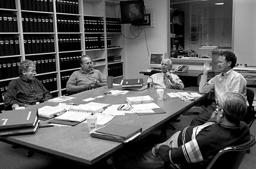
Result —
<instances>
[{"instance_id":1,"label":"pale wall section between bookshelf and glass window, behind the television","mask_svg":"<svg viewBox=\"0 0 256 169\"><path fill-rule=\"evenodd\" d=\"M140 71L147 69L149 64L149 53L167 53L169 48L169 35L167 32L168 22L168 0L144 0L146 13L154 11L154 27L145 26L147 43L144 30L140 36L135 39L125 39L126 50L126 78L143 78L143 82L147 82L147 76L139 74ZM132 32L138 35L137 27L132 28ZM134 38L130 32L130 24L125 26L125 36ZM148 52L147 52L148 45ZM167 57L169 54L167 53Z\"/></svg>"}]
</instances>

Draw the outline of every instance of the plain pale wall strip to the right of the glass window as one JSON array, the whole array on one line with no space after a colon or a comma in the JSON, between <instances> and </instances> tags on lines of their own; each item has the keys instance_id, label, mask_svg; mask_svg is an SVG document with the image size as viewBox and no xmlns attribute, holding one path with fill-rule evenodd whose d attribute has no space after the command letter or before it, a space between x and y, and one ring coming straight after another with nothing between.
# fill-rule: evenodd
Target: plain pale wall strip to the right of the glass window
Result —
<instances>
[{"instance_id":1,"label":"plain pale wall strip to the right of the glass window","mask_svg":"<svg viewBox=\"0 0 256 169\"><path fill-rule=\"evenodd\" d=\"M256 0L233 0L232 48L237 63L256 65Z\"/></svg>"}]
</instances>

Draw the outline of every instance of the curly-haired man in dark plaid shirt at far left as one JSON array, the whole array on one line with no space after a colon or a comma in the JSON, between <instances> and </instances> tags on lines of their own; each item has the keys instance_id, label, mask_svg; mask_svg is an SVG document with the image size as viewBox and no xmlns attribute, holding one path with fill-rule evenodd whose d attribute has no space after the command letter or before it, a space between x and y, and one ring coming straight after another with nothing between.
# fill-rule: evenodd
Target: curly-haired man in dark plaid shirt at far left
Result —
<instances>
[{"instance_id":1,"label":"curly-haired man in dark plaid shirt at far left","mask_svg":"<svg viewBox=\"0 0 256 169\"><path fill-rule=\"evenodd\" d=\"M7 110L10 110L13 104L27 107L52 98L51 93L35 78L35 63L33 61L23 61L19 66L19 73L20 77L9 83L4 98L4 107Z\"/></svg>"}]
</instances>

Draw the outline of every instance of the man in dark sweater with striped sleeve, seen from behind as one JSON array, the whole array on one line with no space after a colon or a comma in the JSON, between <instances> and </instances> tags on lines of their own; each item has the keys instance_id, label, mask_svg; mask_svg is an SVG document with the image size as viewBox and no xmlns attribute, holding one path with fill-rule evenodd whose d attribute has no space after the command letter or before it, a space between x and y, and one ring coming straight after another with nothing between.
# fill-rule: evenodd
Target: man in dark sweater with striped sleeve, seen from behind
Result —
<instances>
[{"instance_id":1,"label":"man in dark sweater with striped sleeve, seen from behind","mask_svg":"<svg viewBox=\"0 0 256 169\"><path fill-rule=\"evenodd\" d=\"M247 112L242 94L225 92L219 98L217 123L189 126L139 157L118 160L116 168L206 168L218 151L250 140L250 130L240 122ZM115 163L114 163L115 164Z\"/></svg>"}]
</instances>

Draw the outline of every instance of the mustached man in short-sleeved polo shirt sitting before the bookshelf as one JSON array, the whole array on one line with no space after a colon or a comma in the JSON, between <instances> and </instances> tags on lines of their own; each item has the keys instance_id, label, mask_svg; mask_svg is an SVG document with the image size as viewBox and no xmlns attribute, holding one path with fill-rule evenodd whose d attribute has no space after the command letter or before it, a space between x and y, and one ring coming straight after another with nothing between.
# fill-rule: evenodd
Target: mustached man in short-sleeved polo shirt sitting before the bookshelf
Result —
<instances>
[{"instance_id":1,"label":"mustached man in short-sleeved polo shirt sitting before the bookshelf","mask_svg":"<svg viewBox=\"0 0 256 169\"><path fill-rule=\"evenodd\" d=\"M80 65L82 68L73 72L68 79L67 92L79 93L107 85L106 77L99 70L93 69L93 62L89 56L81 56Z\"/></svg>"}]
</instances>

